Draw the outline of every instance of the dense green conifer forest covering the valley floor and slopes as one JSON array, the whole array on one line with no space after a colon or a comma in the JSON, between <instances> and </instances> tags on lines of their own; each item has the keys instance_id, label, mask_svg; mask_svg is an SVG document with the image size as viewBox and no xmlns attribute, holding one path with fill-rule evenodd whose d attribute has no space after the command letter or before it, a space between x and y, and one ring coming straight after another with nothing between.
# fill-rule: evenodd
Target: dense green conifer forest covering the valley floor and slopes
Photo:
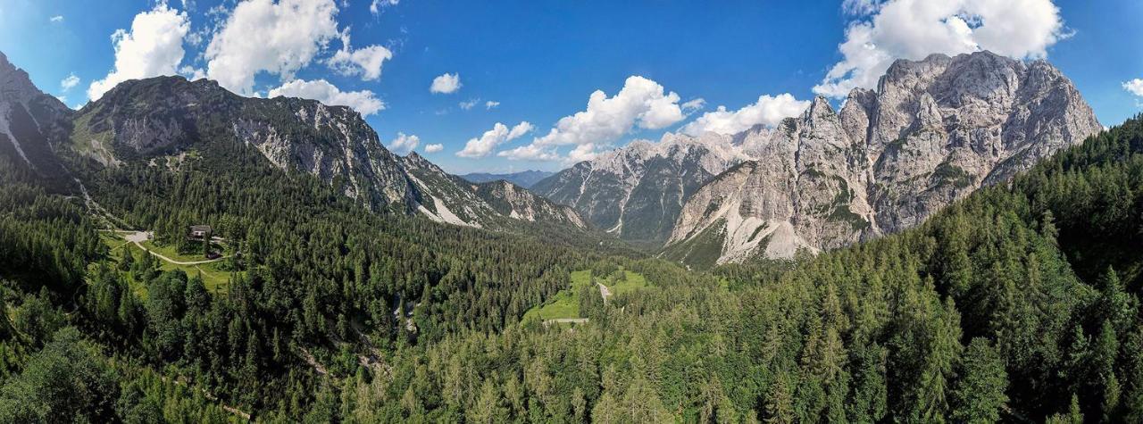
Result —
<instances>
[{"instance_id":1,"label":"dense green conifer forest covering the valley floor and slopes","mask_svg":"<svg viewBox=\"0 0 1143 424\"><path fill-rule=\"evenodd\" d=\"M1143 422L1143 117L903 233L710 272L370 211L227 145L86 171L110 216L0 162L0 422ZM109 221L211 225L229 281ZM647 286L521 322L621 269Z\"/></svg>"}]
</instances>

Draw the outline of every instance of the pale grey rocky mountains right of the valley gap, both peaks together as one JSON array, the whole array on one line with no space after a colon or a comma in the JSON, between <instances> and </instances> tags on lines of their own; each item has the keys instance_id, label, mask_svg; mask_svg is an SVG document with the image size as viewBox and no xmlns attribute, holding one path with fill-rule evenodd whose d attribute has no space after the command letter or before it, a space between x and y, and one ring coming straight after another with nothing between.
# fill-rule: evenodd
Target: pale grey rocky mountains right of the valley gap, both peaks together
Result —
<instances>
[{"instance_id":1,"label":"pale grey rocky mountains right of the valley gap, both peaks together","mask_svg":"<svg viewBox=\"0 0 1143 424\"><path fill-rule=\"evenodd\" d=\"M633 142L534 186L622 239L710 266L897 232L1103 127L1045 61L897 61L840 112L735 135Z\"/></svg>"}]
</instances>

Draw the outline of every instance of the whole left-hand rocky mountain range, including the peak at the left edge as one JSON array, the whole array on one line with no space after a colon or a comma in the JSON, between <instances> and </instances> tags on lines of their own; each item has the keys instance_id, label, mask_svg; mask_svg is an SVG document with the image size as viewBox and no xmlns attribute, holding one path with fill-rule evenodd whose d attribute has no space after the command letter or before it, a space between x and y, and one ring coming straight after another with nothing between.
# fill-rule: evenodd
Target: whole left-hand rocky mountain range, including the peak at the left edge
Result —
<instances>
[{"instance_id":1,"label":"whole left-hand rocky mountain range, including the peak at the left edge","mask_svg":"<svg viewBox=\"0 0 1143 424\"><path fill-rule=\"evenodd\" d=\"M217 143L255 149L265 162L311 174L375 210L474 227L541 222L585 229L570 208L507 182L471 183L416 153L386 150L361 115L317 101L250 98L210 80L125 81L79 111L37 89L0 56L0 153L46 176L63 162L97 169L129 161L177 170Z\"/></svg>"}]
</instances>

